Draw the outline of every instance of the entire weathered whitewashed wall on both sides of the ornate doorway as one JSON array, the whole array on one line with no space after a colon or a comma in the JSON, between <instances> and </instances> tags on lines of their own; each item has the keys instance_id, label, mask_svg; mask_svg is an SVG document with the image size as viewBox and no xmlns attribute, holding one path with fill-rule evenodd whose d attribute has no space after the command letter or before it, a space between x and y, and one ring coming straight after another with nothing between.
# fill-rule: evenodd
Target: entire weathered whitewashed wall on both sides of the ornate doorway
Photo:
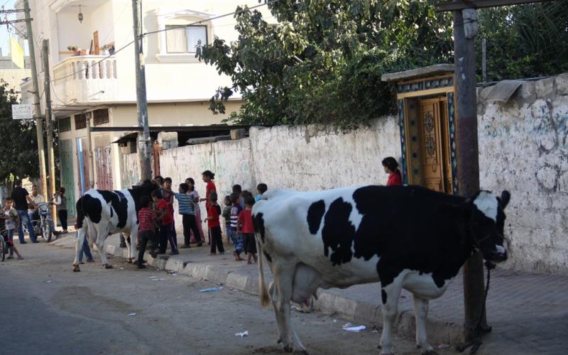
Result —
<instances>
[{"instance_id":1,"label":"entire weathered whitewashed wall on both sides of the ornate doorway","mask_svg":"<svg viewBox=\"0 0 568 355\"><path fill-rule=\"evenodd\" d=\"M510 190L506 234L512 240L506 267L523 271L568 271L568 74L525 82L506 104L479 92L481 188ZM383 184L381 158L400 160L393 116L342 133L321 126L253 128L250 138L164 151L163 176L177 184L217 173L220 197L241 184L321 190ZM181 225L178 222L178 225Z\"/></svg>"}]
</instances>

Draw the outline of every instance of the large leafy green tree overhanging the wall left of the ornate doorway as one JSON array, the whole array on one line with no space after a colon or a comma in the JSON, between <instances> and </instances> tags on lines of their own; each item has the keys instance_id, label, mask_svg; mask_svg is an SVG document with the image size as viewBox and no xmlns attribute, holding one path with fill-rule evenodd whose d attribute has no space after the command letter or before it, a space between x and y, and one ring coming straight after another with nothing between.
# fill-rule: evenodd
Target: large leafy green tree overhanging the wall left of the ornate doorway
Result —
<instances>
[{"instance_id":1,"label":"large leafy green tree overhanging the wall left of the ornate doorway","mask_svg":"<svg viewBox=\"0 0 568 355\"><path fill-rule=\"evenodd\" d=\"M334 123L356 126L394 111L384 72L452 58L451 16L430 1L280 0L268 4L278 26L239 7L239 39L215 38L197 58L229 75L211 109L244 99L239 124Z\"/></svg>"}]
</instances>

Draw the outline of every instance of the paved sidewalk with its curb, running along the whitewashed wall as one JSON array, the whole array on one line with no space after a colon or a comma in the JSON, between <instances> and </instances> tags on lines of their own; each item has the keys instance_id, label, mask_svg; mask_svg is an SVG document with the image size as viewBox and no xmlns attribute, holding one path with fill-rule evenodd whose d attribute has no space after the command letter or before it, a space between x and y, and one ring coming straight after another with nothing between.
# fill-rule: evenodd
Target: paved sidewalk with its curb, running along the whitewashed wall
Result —
<instances>
[{"instance_id":1,"label":"paved sidewalk with its curb, running along the whitewashed wall","mask_svg":"<svg viewBox=\"0 0 568 355\"><path fill-rule=\"evenodd\" d=\"M73 235L52 244L69 247ZM180 249L177 256L146 253L146 261L156 268L175 271L258 294L258 266L236 262L231 246L224 256L209 256L207 245ZM107 253L126 256L119 248L119 236L110 236ZM95 257L97 258L96 254ZM71 263L72 261L70 261ZM116 263L116 261L114 261ZM267 268L268 269L268 268ZM271 273L265 273L267 281ZM268 281L269 282L269 281ZM568 351L568 276L518 273L497 268L491 273L487 300L488 322L493 332L484 337L478 354L566 354ZM313 309L357 324L382 327L381 292L378 283L355 285L340 290L320 290ZM260 302L260 300L259 300ZM414 315L412 295L403 290L399 302L398 334L413 337ZM463 333L464 300L461 275L449 285L446 293L430 302L428 333L432 344L457 344Z\"/></svg>"}]
</instances>

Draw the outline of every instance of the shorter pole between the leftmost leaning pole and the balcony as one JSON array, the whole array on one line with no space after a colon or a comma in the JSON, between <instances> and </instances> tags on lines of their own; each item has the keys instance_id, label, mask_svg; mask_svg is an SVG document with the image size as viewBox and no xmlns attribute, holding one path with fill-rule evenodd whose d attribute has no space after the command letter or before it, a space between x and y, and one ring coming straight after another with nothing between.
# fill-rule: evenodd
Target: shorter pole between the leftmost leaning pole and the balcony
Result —
<instances>
[{"instance_id":1,"label":"shorter pole between the leftmost leaning pole and the balcony","mask_svg":"<svg viewBox=\"0 0 568 355\"><path fill-rule=\"evenodd\" d=\"M43 89L45 92L45 129L48 131L48 165L49 165L49 197L45 195L45 200L49 201L55 196L55 158L53 157L53 122L51 121L51 77L49 72L49 40L43 40ZM55 221L56 209L51 208L52 218Z\"/></svg>"}]
</instances>

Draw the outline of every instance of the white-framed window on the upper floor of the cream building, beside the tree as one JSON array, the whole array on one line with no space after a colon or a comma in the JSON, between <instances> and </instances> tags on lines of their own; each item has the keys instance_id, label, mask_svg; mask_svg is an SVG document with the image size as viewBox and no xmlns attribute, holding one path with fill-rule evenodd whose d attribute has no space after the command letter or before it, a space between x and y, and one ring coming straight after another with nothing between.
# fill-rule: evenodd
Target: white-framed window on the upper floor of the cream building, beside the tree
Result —
<instances>
[{"instance_id":1,"label":"white-framed window on the upper floor of the cream building, beside the tree","mask_svg":"<svg viewBox=\"0 0 568 355\"><path fill-rule=\"evenodd\" d=\"M197 45L207 45L207 26L166 26L168 53L195 53Z\"/></svg>"}]
</instances>

